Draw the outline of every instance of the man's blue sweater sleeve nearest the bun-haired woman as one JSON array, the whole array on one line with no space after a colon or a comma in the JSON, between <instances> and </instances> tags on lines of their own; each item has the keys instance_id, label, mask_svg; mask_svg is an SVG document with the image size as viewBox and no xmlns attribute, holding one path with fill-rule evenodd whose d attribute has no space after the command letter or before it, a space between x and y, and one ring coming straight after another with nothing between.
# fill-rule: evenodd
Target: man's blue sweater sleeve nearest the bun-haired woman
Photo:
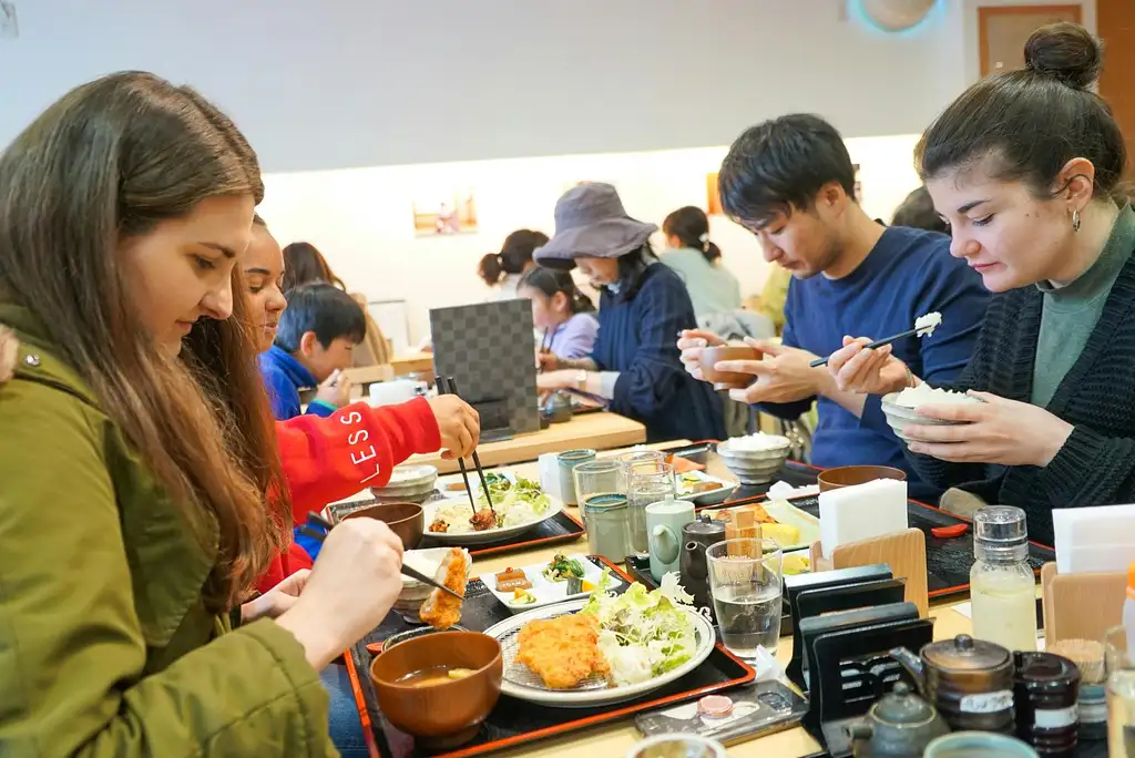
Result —
<instances>
[{"instance_id":1,"label":"man's blue sweater sleeve nearest the bun-haired woman","mask_svg":"<svg viewBox=\"0 0 1135 758\"><path fill-rule=\"evenodd\" d=\"M941 261L927 275L926 285L915 298L914 313L938 311L942 325L933 335L918 340L918 359L910 362L910 371L931 387L944 387L958 380L973 357L990 293L980 275L952 258ZM881 397L867 397L859 423L882 433L890 431Z\"/></svg>"}]
</instances>

